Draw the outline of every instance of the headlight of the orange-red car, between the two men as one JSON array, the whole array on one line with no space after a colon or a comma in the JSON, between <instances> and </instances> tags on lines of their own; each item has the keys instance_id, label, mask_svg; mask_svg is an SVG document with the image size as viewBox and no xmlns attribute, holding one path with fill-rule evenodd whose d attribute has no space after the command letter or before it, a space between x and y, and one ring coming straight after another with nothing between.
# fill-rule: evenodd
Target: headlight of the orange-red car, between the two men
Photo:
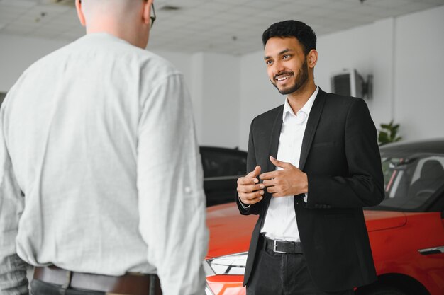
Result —
<instances>
[{"instance_id":1,"label":"headlight of the orange-red car, between the two men","mask_svg":"<svg viewBox=\"0 0 444 295\"><path fill-rule=\"evenodd\" d=\"M248 252L236 253L206 260L206 275L233 274L243 275L247 264Z\"/></svg>"}]
</instances>

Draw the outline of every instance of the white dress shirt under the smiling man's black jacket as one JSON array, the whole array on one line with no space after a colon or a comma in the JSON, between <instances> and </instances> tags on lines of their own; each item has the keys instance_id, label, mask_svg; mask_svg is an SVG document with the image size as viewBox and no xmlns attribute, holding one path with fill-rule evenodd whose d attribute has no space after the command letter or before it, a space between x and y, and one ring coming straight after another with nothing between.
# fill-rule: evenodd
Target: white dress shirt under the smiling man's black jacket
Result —
<instances>
[{"instance_id":1,"label":"white dress shirt under the smiling man's black jacket","mask_svg":"<svg viewBox=\"0 0 444 295\"><path fill-rule=\"evenodd\" d=\"M314 93L296 115L289 105L288 98L285 99L282 129L277 149L277 159L279 161L292 163L296 167L299 166L302 139L304 138L307 119L318 91L319 88L316 87ZM276 170L282 170L282 168L276 167ZM305 201L306 197L304 197ZM300 240L296 214L294 212L294 196L272 197L260 232L265 233L267 238L272 238L273 240Z\"/></svg>"}]
</instances>

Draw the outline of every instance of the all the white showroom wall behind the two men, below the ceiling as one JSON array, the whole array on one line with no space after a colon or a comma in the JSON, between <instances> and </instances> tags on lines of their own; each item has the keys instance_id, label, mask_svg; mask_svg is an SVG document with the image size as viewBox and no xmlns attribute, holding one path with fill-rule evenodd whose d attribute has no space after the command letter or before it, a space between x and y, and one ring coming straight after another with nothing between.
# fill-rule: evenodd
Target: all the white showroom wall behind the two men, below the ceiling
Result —
<instances>
[{"instance_id":1,"label":"all the white showroom wall behind the two men, below the ceiling","mask_svg":"<svg viewBox=\"0 0 444 295\"><path fill-rule=\"evenodd\" d=\"M374 76L368 100L377 127L394 119L404 139L444 137L444 6L318 37L316 83L330 91L330 74L345 67ZM0 92L64 42L0 34ZM156 52L184 73L200 144L247 149L253 117L284 102L268 80L262 48L234 57Z\"/></svg>"}]
</instances>

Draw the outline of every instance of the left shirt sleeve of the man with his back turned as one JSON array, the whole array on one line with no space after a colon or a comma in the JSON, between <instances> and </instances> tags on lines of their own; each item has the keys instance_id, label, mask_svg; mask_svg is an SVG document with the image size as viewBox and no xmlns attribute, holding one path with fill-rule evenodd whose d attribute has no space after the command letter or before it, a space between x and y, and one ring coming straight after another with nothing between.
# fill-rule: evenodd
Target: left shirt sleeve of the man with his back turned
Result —
<instances>
[{"instance_id":1,"label":"left shirt sleeve of the man with his back turned","mask_svg":"<svg viewBox=\"0 0 444 295\"><path fill-rule=\"evenodd\" d=\"M14 175L4 135L4 108L0 111L0 294L28 294L26 263L16 253L18 221L24 199Z\"/></svg>"}]
</instances>

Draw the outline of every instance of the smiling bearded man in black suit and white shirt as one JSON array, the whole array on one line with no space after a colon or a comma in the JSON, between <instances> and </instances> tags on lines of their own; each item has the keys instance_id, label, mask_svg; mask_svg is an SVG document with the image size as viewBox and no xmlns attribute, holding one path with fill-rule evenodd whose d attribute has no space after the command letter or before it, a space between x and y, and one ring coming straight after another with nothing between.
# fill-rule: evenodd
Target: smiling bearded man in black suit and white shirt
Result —
<instances>
[{"instance_id":1,"label":"smiling bearded man in black suit and white shirt","mask_svg":"<svg viewBox=\"0 0 444 295\"><path fill-rule=\"evenodd\" d=\"M316 35L299 21L262 35L284 105L252 120L241 214L259 214L248 295L353 294L376 279L362 207L384 199L377 132L364 100L314 83ZM262 171L262 174L261 174Z\"/></svg>"}]
</instances>

